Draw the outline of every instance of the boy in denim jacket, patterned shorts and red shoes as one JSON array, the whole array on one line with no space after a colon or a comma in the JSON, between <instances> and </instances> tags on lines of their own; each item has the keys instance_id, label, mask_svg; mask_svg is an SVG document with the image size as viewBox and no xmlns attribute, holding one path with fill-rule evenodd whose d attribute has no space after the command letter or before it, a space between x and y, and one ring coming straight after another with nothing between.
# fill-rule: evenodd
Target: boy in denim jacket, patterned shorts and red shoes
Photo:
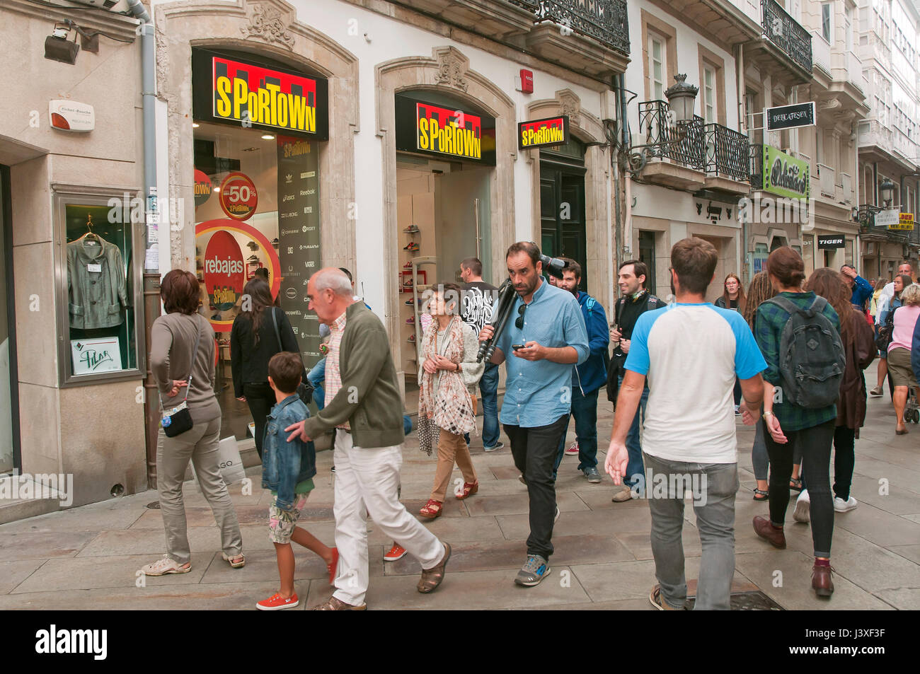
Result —
<instances>
[{"instance_id":1,"label":"boy in denim jacket, patterned shorts and red shoes","mask_svg":"<svg viewBox=\"0 0 920 674\"><path fill-rule=\"evenodd\" d=\"M269 508L271 542L278 556L281 589L256 608L261 611L293 609L300 603L293 591L293 550L291 541L318 554L326 562L329 583L335 579L339 551L321 543L305 529L296 526L313 490L316 474L316 451L313 442L295 439L287 441L284 428L309 417L303 401L297 395L303 363L300 355L282 351L269 360L269 383L277 404L271 408L262 442L262 488L270 489L275 497Z\"/></svg>"}]
</instances>

